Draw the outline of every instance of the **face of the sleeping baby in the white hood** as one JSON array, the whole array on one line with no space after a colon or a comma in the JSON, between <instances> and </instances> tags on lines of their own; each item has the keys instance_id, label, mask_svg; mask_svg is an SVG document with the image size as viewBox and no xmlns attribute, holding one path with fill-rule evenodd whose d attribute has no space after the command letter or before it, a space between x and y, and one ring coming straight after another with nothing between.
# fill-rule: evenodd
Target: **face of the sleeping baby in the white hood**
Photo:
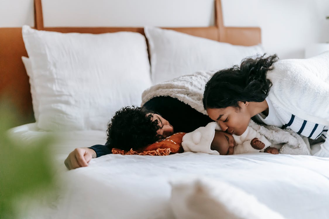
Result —
<instances>
[{"instance_id":1,"label":"face of the sleeping baby in the white hood","mask_svg":"<svg viewBox=\"0 0 329 219\"><path fill-rule=\"evenodd\" d=\"M218 151L221 155L231 155L236 145L237 143L231 134L216 130L211 149Z\"/></svg>"}]
</instances>

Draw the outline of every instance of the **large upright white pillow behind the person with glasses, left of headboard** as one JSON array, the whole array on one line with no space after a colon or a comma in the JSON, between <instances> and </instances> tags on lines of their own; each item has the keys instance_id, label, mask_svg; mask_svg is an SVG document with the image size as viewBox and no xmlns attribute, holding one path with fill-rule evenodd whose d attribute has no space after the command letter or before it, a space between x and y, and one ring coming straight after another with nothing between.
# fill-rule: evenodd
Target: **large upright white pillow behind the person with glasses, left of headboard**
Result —
<instances>
[{"instance_id":1,"label":"large upright white pillow behind the person with glasses, left of headboard","mask_svg":"<svg viewBox=\"0 0 329 219\"><path fill-rule=\"evenodd\" d=\"M139 33L57 33L23 26L22 34L41 129L104 130L119 108L139 105L151 85L146 41Z\"/></svg>"}]
</instances>

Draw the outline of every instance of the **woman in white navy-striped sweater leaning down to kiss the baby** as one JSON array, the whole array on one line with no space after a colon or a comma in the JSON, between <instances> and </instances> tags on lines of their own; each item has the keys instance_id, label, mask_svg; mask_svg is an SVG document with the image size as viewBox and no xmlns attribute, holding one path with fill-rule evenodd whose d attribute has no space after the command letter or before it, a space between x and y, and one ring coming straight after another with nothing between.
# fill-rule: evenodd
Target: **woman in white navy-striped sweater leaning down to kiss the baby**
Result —
<instances>
[{"instance_id":1,"label":"woman in white navy-striped sweater leaning down to kiss the baby","mask_svg":"<svg viewBox=\"0 0 329 219\"><path fill-rule=\"evenodd\" d=\"M322 64L329 65L328 57L321 59ZM244 59L240 66L218 71L211 77L205 87L203 106L209 117L230 134L242 135L253 118L266 125L290 128L310 139L321 136L325 140L329 97L323 100L329 84L324 84L320 92L314 86L327 80L329 74L310 71L316 59L319 58L278 60L277 55ZM310 91L313 94L307 94ZM329 157L328 141L315 156Z\"/></svg>"}]
</instances>

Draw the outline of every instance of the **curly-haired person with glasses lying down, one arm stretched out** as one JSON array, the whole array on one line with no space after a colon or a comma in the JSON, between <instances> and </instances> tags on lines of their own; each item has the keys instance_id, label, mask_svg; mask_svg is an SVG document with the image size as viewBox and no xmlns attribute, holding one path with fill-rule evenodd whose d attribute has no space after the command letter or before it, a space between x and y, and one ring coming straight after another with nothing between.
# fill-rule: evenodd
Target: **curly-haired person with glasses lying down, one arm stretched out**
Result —
<instances>
[{"instance_id":1,"label":"curly-haired person with glasses lying down, one arm stretched out","mask_svg":"<svg viewBox=\"0 0 329 219\"><path fill-rule=\"evenodd\" d=\"M212 120L190 105L172 97L155 97L142 107L123 107L108 125L105 145L76 148L65 160L68 169L88 166L91 158L110 154L113 147L138 150L173 132L192 132Z\"/></svg>"}]
</instances>

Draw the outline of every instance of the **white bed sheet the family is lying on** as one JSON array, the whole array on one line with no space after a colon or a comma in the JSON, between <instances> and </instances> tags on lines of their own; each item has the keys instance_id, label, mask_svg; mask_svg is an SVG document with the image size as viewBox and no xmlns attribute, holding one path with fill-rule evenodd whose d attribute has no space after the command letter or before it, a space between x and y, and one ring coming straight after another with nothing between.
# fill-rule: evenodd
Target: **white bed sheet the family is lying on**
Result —
<instances>
[{"instance_id":1,"label":"white bed sheet the family is lying on","mask_svg":"<svg viewBox=\"0 0 329 219\"><path fill-rule=\"evenodd\" d=\"M35 124L12 132L25 139L42 134ZM105 139L105 132L71 132L65 134L64 143L54 147L63 161L75 147L102 144ZM59 164L65 192L51 206L43 206L45 211L38 207L37 214L47 212L47 218L173 218L168 182L195 176L236 186L285 218L329 218L329 158L187 152L169 156L110 154L70 171Z\"/></svg>"}]
</instances>

